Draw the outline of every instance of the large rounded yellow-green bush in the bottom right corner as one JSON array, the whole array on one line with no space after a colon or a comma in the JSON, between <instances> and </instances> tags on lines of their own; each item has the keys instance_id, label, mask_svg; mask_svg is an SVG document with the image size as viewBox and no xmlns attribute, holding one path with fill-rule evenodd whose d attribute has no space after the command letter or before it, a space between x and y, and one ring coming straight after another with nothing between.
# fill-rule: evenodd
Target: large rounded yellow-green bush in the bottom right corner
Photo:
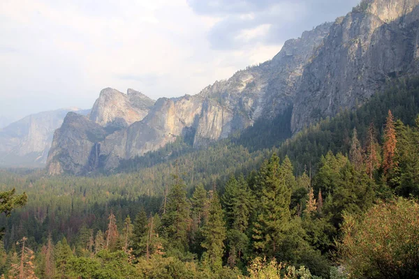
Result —
<instances>
[{"instance_id":1,"label":"large rounded yellow-green bush in the bottom right corner","mask_svg":"<svg viewBox=\"0 0 419 279\"><path fill-rule=\"evenodd\" d=\"M344 216L338 245L350 278L419 278L419 204L380 202L363 216Z\"/></svg>"}]
</instances>

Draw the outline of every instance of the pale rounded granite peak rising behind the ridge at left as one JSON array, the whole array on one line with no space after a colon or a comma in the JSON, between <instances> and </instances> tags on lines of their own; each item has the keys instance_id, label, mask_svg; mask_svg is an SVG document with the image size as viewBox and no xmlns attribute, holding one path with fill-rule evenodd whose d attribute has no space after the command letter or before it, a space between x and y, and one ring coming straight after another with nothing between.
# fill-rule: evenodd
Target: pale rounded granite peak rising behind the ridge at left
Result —
<instances>
[{"instance_id":1,"label":"pale rounded granite peak rising behind the ridge at left","mask_svg":"<svg viewBox=\"0 0 419 279\"><path fill-rule=\"evenodd\" d=\"M142 120L154 103L154 100L133 89L124 94L105 88L91 108L89 119L101 126L124 128Z\"/></svg>"}]
</instances>

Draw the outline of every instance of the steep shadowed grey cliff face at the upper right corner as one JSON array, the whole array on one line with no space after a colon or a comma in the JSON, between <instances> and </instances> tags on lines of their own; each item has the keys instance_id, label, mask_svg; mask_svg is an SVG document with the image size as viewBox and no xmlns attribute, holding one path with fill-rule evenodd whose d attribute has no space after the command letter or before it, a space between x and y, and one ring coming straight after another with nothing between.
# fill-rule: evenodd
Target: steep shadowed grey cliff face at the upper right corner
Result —
<instances>
[{"instance_id":1,"label":"steep shadowed grey cliff face at the upper right corner","mask_svg":"<svg viewBox=\"0 0 419 279\"><path fill-rule=\"evenodd\" d=\"M419 0L369 0L339 18L304 69L293 132L362 104L385 81L418 73Z\"/></svg>"}]
</instances>

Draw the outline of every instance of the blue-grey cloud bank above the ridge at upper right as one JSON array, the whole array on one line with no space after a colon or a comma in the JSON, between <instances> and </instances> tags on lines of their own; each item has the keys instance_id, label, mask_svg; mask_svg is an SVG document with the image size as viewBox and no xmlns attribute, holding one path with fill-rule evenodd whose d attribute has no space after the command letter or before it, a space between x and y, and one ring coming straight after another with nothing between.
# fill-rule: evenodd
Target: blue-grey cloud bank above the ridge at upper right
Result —
<instances>
[{"instance_id":1,"label":"blue-grey cloud bank above the ridge at upper right","mask_svg":"<svg viewBox=\"0 0 419 279\"><path fill-rule=\"evenodd\" d=\"M208 33L213 49L237 50L252 43L283 44L300 36L302 31L345 15L359 0L189 0L188 3L196 13L220 19ZM240 36L251 30L257 36Z\"/></svg>"}]
</instances>

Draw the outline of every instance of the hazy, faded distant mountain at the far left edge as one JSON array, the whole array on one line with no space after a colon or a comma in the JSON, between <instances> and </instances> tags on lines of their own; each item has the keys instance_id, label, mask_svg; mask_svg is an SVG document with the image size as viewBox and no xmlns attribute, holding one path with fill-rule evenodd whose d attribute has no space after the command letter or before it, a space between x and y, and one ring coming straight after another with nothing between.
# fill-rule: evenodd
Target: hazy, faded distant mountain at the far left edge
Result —
<instances>
[{"instance_id":1,"label":"hazy, faded distant mountain at the far left edge","mask_svg":"<svg viewBox=\"0 0 419 279\"><path fill-rule=\"evenodd\" d=\"M87 114L77 108L31 114L0 129L0 165L45 164L54 130L68 112Z\"/></svg>"}]
</instances>

